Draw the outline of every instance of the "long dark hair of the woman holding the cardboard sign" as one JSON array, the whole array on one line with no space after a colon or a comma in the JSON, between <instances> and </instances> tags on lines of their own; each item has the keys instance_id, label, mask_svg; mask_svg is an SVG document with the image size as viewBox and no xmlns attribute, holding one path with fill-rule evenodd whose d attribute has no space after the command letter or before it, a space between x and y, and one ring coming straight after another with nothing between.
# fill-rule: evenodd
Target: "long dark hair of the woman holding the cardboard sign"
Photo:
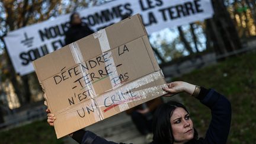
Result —
<instances>
[{"instance_id":1,"label":"long dark hair of the woman holding the cardboard sign","mask_svg":"<svg viewBox=\"0 0 256 144\"><path fill-rule=\"evenodd\" d=\"M185 111L187 108L178 102L169 101L168 103L160 105L153 116L153 143L174 143L174 136L172 135L171 116L175 108L181 107ZM198 133L194 129L194 140L198 138Z\"/></svg>"}]
</instances>

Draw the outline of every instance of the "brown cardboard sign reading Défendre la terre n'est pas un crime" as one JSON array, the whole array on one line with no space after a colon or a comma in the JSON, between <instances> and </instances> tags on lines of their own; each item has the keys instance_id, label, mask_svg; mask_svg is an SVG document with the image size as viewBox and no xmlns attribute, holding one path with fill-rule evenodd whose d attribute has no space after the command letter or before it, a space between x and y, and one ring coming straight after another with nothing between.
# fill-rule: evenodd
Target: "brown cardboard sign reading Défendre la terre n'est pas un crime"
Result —
<instances>
[{"instance_id":1,"label":"brown cardboard sign reading D\u00e9fendre la terre n'est pas un crime","mask_svg":"<svg viewBox=\"0 0 256 144\"><path fill-rule=\"evenodd\" d=\"M57 138L164 95L140 15L33 62Z\"/></svg>"}]
</instances>

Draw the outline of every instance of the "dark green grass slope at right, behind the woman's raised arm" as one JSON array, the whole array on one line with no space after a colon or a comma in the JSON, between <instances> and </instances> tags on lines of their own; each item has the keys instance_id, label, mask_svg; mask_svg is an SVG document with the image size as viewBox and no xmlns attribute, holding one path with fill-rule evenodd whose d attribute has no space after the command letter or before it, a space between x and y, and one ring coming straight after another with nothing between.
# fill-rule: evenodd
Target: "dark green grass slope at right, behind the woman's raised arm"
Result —
<instances>
[{"instance_id":1,"label":"dark green grass slope at right, behind the woman's raised arm","mask_svg":"<svg viewBox=\"0 0 256 144\"><path fill-rule=\"evenodd\" d=\"M256 140L256 53L230 57L216 65L175 78L174 81L214 88L232 105L232 122L228 143L255 143ZM210 122L210 110L182 94L190 109L196 129L204 135Z\"/></svg>"}]
</instances>

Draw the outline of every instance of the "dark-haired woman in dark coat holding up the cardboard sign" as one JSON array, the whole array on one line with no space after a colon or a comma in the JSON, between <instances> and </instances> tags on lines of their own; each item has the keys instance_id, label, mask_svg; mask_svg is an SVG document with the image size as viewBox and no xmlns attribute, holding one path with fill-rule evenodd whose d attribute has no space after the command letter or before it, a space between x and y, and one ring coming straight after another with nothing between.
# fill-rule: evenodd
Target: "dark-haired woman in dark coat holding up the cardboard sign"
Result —
<instances>
[{"instance_id":1,"label":"dark-haired woman in dark coat holding up the cardboard sign","mask_svg":"<svg viewBox=\"0 0 256 144\"><path fill-rule=\"evenodd\" d=\"M213 89L206 89L187 82L171 82L167 88L167 96L186 92L200 100L200 102L210 108L212 120L204 138L198 139L196 129L190 114L183 104L171 101L160 105L153 117L153 142L156 143L226 143L231 124L231 104L221 94ZM53 126L55 117L50 111L48 123ZM71 137L79 143L104 144L109 142L92 132L78 130L71 134Z\"/></svg>"}]
</instances>

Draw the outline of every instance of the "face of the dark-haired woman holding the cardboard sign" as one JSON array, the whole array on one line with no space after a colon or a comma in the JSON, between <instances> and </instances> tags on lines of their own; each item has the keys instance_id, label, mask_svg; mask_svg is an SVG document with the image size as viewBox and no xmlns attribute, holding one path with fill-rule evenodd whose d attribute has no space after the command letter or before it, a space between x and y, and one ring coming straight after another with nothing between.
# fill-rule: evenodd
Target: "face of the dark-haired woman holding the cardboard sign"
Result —
<instances>
[{"instance_id":1,"label":"face of the dark-haired woman holding the cardboard sign","mask_svg":"<svg viewBox=\"0 0 256 144\"><path fill-rule=\"evenodd\" d=\"M184 108L177 107L171 116L172 135L175 142L188 142L194 137L193 121Z\"/></svg>"}]
</instances>

